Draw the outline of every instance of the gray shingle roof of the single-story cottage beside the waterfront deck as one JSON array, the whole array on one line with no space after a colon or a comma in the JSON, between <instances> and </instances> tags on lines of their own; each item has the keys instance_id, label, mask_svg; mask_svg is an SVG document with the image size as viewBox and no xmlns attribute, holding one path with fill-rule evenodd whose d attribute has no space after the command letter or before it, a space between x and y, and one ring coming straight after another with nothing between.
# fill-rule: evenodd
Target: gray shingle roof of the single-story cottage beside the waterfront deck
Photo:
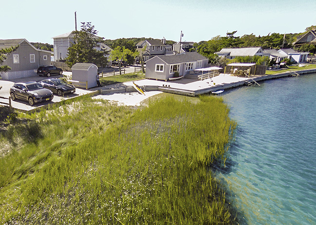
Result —
<instances>
[{"instance_id":1,"label":"gray shingle roof of the single-story cottage beside the waterfront deck","mask_svg":"<svg viewBox=\"0 0 316 225\"><path fill-rule=\"evenodd\" d=\"M195 62L198 60L207 60L206 57L204 57L203 55L200 55L197 52L186 52L186 53L182 53L178 55L162 55L162 56L155 56L155 57L159 57L166 64L179 64L179 63Z\"/></svg>"}]
</instances>

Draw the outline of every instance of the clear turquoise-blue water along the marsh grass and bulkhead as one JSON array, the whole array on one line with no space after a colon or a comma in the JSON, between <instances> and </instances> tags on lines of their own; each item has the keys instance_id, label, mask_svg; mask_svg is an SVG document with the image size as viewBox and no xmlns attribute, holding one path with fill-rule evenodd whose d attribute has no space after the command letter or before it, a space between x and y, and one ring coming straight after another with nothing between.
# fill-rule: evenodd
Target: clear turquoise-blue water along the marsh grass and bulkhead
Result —
<instances>
[{"instance_id":1,"label":"clear turquoise-blue water along the marsh grass and bulkhead","mask_svg":"<svg viewBox=\"0 0 316 225\"><path fill-rule=\"evenodd\" d=\"M225 91L238 123L227 170L248 225L316 225L316 74Z\"/></svg>"}]
</instances>

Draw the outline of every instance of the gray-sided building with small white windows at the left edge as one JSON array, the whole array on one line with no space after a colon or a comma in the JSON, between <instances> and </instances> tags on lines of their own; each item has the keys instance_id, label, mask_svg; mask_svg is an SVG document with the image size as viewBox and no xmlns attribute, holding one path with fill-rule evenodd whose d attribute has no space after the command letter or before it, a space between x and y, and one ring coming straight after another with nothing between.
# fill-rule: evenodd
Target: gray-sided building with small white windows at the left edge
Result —
<instances>
[{"instance_id":1,"label":"gray-sided building with small white windows at the left edge","mask_svg":"<svg viewBox=\"0 0 316 225\"><path fill-rule=\"evenodd\" d=\"M19 46L19 48L7 54L2 65L8 65L11 69L1 72L4 80L36 76L37 68L40 65L51 64L53 52L35 48L26 39L0 40L0 49Z\"/></svg>"}]
</instances>

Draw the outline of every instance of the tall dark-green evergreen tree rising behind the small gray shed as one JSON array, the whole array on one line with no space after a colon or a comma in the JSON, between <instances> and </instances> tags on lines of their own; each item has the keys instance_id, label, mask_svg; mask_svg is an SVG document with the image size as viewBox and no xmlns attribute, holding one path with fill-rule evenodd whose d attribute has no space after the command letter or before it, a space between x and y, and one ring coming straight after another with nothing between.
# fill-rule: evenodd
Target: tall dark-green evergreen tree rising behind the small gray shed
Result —
<instances>
[{"instance_id":1,"label":"tall dark-green evergreen tree rising behind the small gray shed","mask_svg":"<svg viewBox=\"0 0 316 225\"><path fill-rule=\"evenodd\" d=\"M72 67L76 63L93 63L98 67L105 67L108 63L105 56L108 52L97 50L96 47L102 42L103 38L96 36L91 22L81 22L81 30L74 31L74 45L68 48L66 64Z\"/></svg>"}]
</instances>

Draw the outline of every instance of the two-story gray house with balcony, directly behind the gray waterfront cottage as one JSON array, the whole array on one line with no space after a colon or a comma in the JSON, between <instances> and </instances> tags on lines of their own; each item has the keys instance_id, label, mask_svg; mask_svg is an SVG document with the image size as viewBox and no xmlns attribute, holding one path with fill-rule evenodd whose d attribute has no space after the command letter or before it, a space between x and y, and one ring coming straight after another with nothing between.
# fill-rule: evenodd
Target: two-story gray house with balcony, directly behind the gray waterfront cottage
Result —
<instances>
[{"instance_id":1,"label":"two-story gray house with balcony, directly behind the gray waterfront cottage","mask_svg":"<svg viewBox=\"0 0 316 225\"><path fill-rule=\"evenodd\" d=\"M145 40L136 44L136 50L141 51L146 47L144 52L144 61L147 61L156 55L173 55L172 46L166 45L166 39L162 40Z\"/></svg>"}]
</instances>

